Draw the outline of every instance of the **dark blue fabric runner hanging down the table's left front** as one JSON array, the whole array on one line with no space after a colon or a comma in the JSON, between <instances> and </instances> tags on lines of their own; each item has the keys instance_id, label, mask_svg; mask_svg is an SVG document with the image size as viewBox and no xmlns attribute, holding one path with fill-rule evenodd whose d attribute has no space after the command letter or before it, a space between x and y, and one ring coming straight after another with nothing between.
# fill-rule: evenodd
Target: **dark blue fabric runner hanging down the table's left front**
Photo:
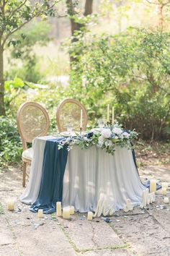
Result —
<instances>
[{"instance_id":1,"label":"dark blue fabric runner hanging down the table's left front","mask_svg":"<svg viewBox=\"0 0 170 256\"><path fill-rule=\"evenodd\" d=\"M63 175L68 156L67 145L58 150L58 144L62 140L63 137L58 137L45 143L40 192L30 207L34 213L38 209L43 209L43 213L54 213L56 202L62 201Z\"/></svg>"}]
</instances>

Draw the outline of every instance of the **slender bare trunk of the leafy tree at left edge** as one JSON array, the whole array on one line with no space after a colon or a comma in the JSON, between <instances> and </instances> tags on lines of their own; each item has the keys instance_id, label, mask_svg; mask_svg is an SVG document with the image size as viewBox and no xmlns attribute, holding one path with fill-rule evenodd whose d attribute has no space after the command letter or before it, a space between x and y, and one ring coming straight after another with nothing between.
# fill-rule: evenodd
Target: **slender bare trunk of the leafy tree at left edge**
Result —
<instances>
[{"instance_id":1,"label":"slender bare trunk of the leafy tree at left edge","mask_svg":"<svg viewBox=\"0 0 170 256\"><path fill-rule=\"evenodd\" d=\"M4 49L0 44L0 116L5 115L6 113L4 106Z\"/></svg>"}]
</instances>

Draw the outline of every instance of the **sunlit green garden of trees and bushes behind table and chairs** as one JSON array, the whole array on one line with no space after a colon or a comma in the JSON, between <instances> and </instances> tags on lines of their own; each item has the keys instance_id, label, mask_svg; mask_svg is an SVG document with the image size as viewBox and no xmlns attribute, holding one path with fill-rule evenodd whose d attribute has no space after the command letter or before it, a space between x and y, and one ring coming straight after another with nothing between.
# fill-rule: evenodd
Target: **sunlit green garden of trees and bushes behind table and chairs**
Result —
<instances>
[{"instance_id":1,"label":"sunlit green garden of trees and bushes behind table and chairs","mask_svg":"<svg viewBox=\"0 0 170 256\"><path fill-rule=\"evenodd\" d=\"M68 97L84 104L89 127L115 106L117 121L139 132L138 166L168 165L170 1L39 2L0 1L1 169L20 163L20 104L45 105L53 133L56 107Z\"/></svg>"}]
</instances>

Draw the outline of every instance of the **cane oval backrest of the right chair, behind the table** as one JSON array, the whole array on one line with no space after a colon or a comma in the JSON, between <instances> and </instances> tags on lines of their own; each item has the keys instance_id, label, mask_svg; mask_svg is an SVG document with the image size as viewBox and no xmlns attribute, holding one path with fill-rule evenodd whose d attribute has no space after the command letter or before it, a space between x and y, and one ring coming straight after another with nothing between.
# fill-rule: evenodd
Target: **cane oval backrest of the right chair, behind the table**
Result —
<instances>
[{"instance_id":1,"label":"cane oval backrest of the right chair, behind the table","mask_svg":"<svg viewBox=\"0 0 170 256\"><path fill-rule=\"evenodd\" d=\"M84 106L79 101L76 101L73 98L66 98L65 100L61 101L56 112L58 131L67 131L69 122L73 124L73 131L79 131L81 109L83 111L82 130L84 131L87 124L86 108L84 108Z\"/></svg>"}]
</instances>

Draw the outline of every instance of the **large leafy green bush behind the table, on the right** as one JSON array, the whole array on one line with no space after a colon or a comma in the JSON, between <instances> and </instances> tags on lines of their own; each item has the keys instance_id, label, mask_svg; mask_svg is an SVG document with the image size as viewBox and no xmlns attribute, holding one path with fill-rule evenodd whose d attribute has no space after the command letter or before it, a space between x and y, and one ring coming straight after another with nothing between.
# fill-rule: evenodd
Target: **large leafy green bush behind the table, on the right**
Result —
<instances>
[{"instance_id":1,"label":"large leafy green bush behind the table, on the right","mask_svg":"<svg viewBox=\"0 0 170 256\"><path fill-rule=\"evenodd\" d=\"M164 139L164 127L170 127L169 46L169 33L161 31L79 36L68 48L71 56L81 48L68 95L84 103L91 121L104 117L110 103L125 127L145 139Z\"/></svg>"}]
</instances>

